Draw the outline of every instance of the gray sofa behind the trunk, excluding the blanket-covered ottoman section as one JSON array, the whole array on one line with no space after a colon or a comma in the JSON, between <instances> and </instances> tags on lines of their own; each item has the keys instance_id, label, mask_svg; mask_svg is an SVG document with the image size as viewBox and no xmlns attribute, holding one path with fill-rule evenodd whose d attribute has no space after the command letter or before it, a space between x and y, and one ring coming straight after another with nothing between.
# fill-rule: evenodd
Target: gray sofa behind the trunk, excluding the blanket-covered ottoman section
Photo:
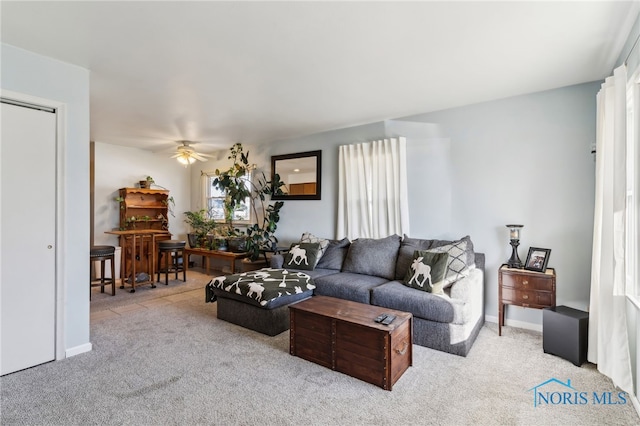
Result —
<instances>
[{"instance_id":1,"label":"gray sofa behind the trunk, excluding the blanket-covered ottoman section","mask_svg":"<svg viewBox=\"0 0 640 426\"><path fill-rule=\"evenodd\" d=\"M458 241L465 243L460 257L468 268L444 295L402 281L416 250L437 250L456 241L397 235L331 241L316 267L304 272L314 279L314 294L411 312L415 344L466 356L484 324L484 254L473 251L469 237ZM271 267L280 268L283 261L282 255L274 256Z\"/></svg>"}]
</instances>

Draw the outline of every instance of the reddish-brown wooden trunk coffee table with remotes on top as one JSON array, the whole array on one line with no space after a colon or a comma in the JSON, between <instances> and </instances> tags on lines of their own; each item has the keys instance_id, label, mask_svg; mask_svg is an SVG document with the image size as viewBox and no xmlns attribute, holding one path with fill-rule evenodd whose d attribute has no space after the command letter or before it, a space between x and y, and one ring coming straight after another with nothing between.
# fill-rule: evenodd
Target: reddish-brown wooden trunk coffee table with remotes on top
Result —
<instances>
[{"instance_id":1,"label":"reddish-brown wooden trunk coffee table with remotes on top","mask_svg":"<svg viewBox=\"0 0 640 426\"><path fill-rule=\"evenodd\" d=\"M289 306L289 352L308 361L391 390L413 363L409 312L314 296ZM389 325L376 323L393 314Z\"/></svg>"}]
</instances>

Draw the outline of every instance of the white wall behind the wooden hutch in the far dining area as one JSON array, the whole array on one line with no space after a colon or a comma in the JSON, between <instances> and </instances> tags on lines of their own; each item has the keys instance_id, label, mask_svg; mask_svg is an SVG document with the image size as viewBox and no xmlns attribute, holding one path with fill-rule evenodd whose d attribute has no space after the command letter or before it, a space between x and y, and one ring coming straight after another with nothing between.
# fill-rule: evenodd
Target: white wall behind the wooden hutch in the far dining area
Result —
<instances>
[{"instance_id":1,"label":"white wall behind the wooden hutch in the far dining area","mask_svg":"<svg viewBox=\"0 0 640 426\"><path fill-rule=\"evenodd\" d=\"M191 206L191 170L170 154L157 153L108 143L95 143L94 243L118 245L118 237L105 231L120 226L120 188L135 188L146 176L169 190L175 217L169 215L169 231L174 239L186 240L183 212ZM162 189L153 186L154 189Z\"/></svg>"}]
</instances>

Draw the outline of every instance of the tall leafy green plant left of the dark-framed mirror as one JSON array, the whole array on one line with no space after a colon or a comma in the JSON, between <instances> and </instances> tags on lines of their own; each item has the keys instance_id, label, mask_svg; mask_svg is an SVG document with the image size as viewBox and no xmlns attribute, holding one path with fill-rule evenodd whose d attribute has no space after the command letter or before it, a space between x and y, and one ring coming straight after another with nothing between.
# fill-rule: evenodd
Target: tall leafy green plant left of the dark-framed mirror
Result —
<instances>
[{"instance_id":1,"label":"tall leafy green plant left of the dark-framed mirror","mask_svg":"<svg viewBox=\"0 0 640 426\"><path fill-rule=\"evenodd\" d=\"M249 151L245 154L241 143L234 144L230 151L228 158L233 160L233 164L225 171L216 170L218 177L214 179L213 186L226 195L225 216L227 228L232 234L229 245L231 246L233 237L241 237L245 244L244 251L249 253L251 260L256 260L261 249L271 248L278 241L275 230L284 202L271 202L270 197L282 195L284 183L277 174L273 181L267 180L264 173L261 173L255 182L248 180L249 173L256 169L255 164L249 163ZM233 227L233 213L247 198L251 199L255 222L249 225L246 234L243 234Z\"/></svg>"}]
</instances>

